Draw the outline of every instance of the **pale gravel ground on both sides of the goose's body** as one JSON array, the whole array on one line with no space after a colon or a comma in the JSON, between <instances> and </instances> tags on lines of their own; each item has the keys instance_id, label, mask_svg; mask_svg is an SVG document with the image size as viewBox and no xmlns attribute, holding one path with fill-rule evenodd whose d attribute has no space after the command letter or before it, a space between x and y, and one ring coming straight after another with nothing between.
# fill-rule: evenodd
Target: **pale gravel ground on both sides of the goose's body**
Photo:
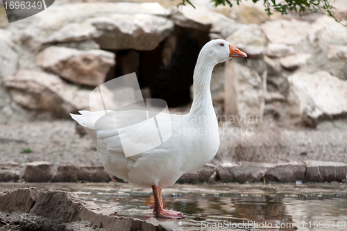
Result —
<instances>
[{"instance_id":1,"label":"pale gravel ground on both sides of the goose's body","mask_svg":"<svg viewBox=\"0 0 347 231\"><path fill-rule=\"evenodd\" d=\"M30 148L31 153L23 153ZM325 160L347 163L347 121L324 122L316 129L289 130L264 124L253 134L221 136L214 164L221 162L305 162ZM35 121L0 123L0 162L48 161L60 164L100 165L89 135L76 132L76 122Z\"/></svg>"}]
</instances>

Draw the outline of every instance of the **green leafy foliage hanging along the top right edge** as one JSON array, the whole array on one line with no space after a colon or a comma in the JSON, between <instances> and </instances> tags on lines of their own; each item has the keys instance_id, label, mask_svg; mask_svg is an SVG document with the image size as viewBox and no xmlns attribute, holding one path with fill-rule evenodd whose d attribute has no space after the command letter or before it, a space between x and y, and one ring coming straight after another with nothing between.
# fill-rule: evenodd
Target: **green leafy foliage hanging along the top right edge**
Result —
<instances>
[{"instance_id":1,"label":"green leafy foliage hanging along the top right edge","mask_svg":"<svg viewBox=\"0 0 347 231\"><path fill-rule=\"evenodd\" d=\"M214 6L219 5L232 7L232 1L237 5L242 3L242 0L211 0ZM251 0L256 3L259 0ZM179 5L189 3L191 6L194 5L189 0L182 0ZM273 10L276 10L282 15L287 15L289 12L298 12L300 15L308 15L312 13L324 13L327 12L329 16L333 17L340 24L344 24L341 19L337 19L332 12L334 7L332 6L332 0L264 0L265 10L267 15L272 15ZM195 7L194 7L195 8ZM346 26L346 24L344 24Z\"/></svg>"}]
</instances>

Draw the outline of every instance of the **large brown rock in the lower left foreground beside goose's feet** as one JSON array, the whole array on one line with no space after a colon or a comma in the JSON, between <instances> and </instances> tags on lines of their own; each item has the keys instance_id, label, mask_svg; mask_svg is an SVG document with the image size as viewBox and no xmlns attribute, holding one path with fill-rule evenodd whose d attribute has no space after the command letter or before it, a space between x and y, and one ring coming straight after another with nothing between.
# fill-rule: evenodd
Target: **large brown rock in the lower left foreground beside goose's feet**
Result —
<instances>
[{"instance_id":1,"label":"large brown rock in the lower left foreground beside goose's feet","mask_svg":"<svg viewBox=\"0 0 347 231\"><path fill-rule=\"evenodd\" d=\"M106 231L182 230L174 222L117 216L114 209L102 209L93 202L81 200L73 192L59 190L26 188L0 193L0 211L24 213L6 214L15 218L13 223L19 223L23 230L92 230L85 227L87 223L94 230Z\"/></svg>"}]
</instances>

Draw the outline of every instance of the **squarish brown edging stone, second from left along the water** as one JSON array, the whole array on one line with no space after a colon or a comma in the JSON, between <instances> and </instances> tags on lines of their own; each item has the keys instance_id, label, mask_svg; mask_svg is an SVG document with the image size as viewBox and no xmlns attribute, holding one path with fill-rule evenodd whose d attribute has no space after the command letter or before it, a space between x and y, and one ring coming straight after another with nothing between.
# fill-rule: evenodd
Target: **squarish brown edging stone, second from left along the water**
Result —
<instances>
[{"instance_id":1,"label":"squarish brown edging stone, second from left along the water","mask_svg":"<svg viewBox=\"0 0 347 231\"><path fill-rule=\"evenodd\" d=\"M51 180L51 164L37 161L26 164L23 178L26 182L49 182Z\"/></svg>"}]
</instances>

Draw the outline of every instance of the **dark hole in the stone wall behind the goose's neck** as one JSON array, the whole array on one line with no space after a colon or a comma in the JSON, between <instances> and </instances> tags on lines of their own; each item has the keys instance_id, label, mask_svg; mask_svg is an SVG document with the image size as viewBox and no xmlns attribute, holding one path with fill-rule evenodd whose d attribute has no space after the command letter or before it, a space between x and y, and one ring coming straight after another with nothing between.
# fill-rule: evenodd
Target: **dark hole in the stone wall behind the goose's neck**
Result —
<instances>
[{"instance_id":1,"label":"dark hole in the stone wall behind the goose's neck","mask_svg":"<svg viewBox=\"0 0 347 231\"><path fill-rule=\"evenodd\" d=\"M169 108L187 105L192 102L190 87L198 53L208 41L208 31L176 26L151 51L108 50L116 54L116 65L105 82L136 72L144 98L163 99Z\"/></svg>"}]
</instances>

